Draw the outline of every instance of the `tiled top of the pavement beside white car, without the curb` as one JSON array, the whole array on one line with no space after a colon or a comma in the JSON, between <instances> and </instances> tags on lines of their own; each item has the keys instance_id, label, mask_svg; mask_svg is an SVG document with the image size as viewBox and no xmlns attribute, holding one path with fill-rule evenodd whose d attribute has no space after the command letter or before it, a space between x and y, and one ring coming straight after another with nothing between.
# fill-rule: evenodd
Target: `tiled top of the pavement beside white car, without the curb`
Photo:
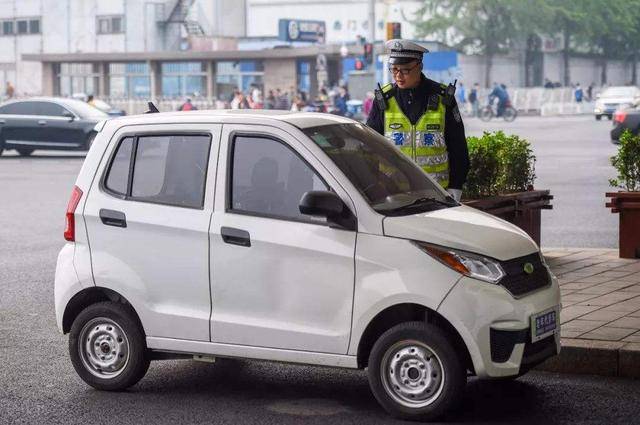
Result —
<instances>
[{"instance_id":1,"label":"tiled top of the pavement beside white car, without the curb","mask_svg":"<svg viewBox=\"0 0 640 425\"><path fill-rule=\"evenodd\" d=\"M544 250L562 292L563 338L640 343L640 260L617 250Z\"/></svg>"}]
</instances>

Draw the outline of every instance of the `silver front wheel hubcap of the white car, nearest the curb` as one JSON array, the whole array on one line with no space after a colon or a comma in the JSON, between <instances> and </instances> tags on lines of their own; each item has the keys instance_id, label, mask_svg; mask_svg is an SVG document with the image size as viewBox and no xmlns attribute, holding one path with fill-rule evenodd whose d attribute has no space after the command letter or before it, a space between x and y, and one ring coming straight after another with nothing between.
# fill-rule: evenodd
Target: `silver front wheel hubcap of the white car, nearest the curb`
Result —
<instances>
[{"instance_id":1,"label":"silver front wheel hubcap of the white car, nearest the curb","mask_svg":"<svg viewBox=\"0 0 640 425\"><path fill-rule=\"evenodd\" d=\"M391 346L382 358L380 373L387 393L411 408L433 403L445 380L442 362L420 341L400 341Z\"/></svg>"}]
</instances>

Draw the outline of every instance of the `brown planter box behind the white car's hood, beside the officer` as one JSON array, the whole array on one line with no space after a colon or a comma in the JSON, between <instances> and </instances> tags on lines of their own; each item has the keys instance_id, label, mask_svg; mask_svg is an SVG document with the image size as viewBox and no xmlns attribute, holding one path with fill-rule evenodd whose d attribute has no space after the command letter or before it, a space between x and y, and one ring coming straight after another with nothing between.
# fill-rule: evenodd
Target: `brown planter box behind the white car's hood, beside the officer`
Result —
<instances>
[{"instance_id":1,"label":"brown planter box behind the white car's hood, beside the officer","mask_svg":"<svg viewBox=\"0 0 640 425\"><path fill-rule=\"evenodd\" d=\"M529 190L463 203L515 224L540 245L540 210L552 209L552 199L548 190Z\"/></svg>"}]
</instances>

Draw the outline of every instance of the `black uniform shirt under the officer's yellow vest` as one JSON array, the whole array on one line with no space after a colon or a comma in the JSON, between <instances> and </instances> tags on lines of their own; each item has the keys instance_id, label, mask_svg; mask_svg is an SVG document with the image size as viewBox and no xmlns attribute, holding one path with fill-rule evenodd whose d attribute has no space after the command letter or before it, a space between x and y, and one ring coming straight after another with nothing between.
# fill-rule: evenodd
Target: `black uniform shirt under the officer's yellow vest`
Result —
<instances>
[{"instance_id":1,"label":"black uniform shirt under the officer's yellow vest","mask_svg":"<svg viewBox=\"0 0 640 425\"><path fill-rule=\"evenodd\" d=\"M440 92L440 84L422 75L420 84L414 89L396 87L396 100L411 124L415 125L427 110L429 95L440 94ZM447 107L444 123L444 140L449 154L449 187L451 189L462 189L469 172L469 152L464 135L464 124L457 108L458 106L453 100L453 105ZM454 109L456 109L455 113ZM369 113L367 125L384 136L384 111L376 102L373 103Z\"/></svg>"}]
</instances>

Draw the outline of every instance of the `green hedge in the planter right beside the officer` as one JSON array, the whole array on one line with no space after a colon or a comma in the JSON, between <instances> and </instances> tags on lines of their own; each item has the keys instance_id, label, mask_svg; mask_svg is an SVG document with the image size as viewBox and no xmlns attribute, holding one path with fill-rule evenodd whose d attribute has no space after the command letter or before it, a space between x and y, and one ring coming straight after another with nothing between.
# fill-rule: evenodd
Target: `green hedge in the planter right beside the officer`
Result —
<instances>
[{"instance_id":1,"label":"green hedge in the planter right beside the officer","mask_svg":"<svg viewBox=\"0 0 640 425\"><path fill-rule=\"evenodd\" d=\"M536 178L531 145L502 131L485 132L482 137L468 137L469 175L464 186L466 199L523 192Z\"/></svg>"}]
</instances>

